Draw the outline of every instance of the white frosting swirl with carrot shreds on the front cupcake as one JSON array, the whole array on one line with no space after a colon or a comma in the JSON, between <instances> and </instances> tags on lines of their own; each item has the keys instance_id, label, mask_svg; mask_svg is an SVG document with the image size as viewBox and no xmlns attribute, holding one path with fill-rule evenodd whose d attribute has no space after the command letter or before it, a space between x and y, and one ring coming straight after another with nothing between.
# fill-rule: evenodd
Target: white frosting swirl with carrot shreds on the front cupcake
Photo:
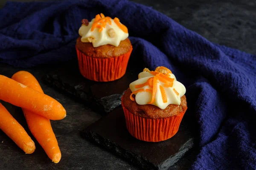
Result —
<instances>
[{"instance_id":1,"label":"white frosting swirl with carrot shreds on the front cupcake","mask_svg":"<svg viewBox=\"0 0 256 170\"><path fill-rule=\"evenodd\" d=\"M186 93L185 86L176 80L172 71L162 66L155 71L145 68L139 79L130 84L130 89L130 99L137 104L151 104L161 109L170 104L180 105L180 97Z\"/></svg>"}]
</instances>

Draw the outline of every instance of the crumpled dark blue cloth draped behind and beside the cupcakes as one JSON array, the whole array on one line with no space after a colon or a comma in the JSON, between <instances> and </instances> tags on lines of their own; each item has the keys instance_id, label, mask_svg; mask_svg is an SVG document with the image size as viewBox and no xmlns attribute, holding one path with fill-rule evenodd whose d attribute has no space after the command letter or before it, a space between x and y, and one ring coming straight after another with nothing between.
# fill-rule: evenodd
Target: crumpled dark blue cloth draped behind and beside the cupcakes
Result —
<instances>
[{"instance_id":1,"label":"crumpled dark blue cloth draped behind and beside the cupcakes","mask_svg":"<svg viewBox=\"0 0 256 170\"><path fill-rule=\"evenodd\" d=\"M29 68L76 58L81 20L119 17L148 68L166 66L187 89L201 147L192 169L256 169L256 56L209 42L126 0L9 2L0 10L0 62ZM194 128L194 127L193 127Z\"/></svg>"}]
</instances>

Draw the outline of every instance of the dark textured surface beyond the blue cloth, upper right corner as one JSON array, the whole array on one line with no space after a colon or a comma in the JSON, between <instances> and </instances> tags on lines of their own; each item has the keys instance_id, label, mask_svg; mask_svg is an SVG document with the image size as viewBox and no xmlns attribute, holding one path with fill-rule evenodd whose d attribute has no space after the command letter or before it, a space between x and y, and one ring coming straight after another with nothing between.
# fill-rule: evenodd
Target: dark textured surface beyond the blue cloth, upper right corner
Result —
<instances>
[{"instance_id":1,"label":"dark textured surface beyond the blue cloth, upper right corner","mask_svg":"<svg viewBox=\"0 0 256 170\"><path fill-rule=\"evenodd\" d=\"M255 0L132 0L166 14L211 42L256 54Z\"/></svg>"}]
</instances>

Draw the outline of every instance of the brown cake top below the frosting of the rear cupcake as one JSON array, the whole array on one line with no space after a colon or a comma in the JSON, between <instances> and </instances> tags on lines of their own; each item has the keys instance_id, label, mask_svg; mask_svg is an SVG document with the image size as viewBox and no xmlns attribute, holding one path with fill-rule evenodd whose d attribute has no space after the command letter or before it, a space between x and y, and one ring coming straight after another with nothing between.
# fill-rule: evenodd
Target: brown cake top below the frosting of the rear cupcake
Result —
<instances>
[{"instance_id":1,"label":"brown cake top below the frosting of the rear cupcake","mask_svg":"<svg viewBox=\"0 0 256 170\"><path fill-rule=\"evenodd\" d=\"M76 48L86 56L97 58L119 57L131 49L131 41L127 38L120 42L118 47L113 45L102 45L94 48L90 42L81 42L81 37L76 40Z\"/></svg>"}]
</instances>

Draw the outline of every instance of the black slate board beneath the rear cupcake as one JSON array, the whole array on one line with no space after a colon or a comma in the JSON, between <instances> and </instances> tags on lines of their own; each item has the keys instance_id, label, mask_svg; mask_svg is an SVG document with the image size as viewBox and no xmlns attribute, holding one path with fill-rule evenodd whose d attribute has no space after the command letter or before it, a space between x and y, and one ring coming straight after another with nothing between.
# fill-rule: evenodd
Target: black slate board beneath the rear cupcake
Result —
<instances>
[{"instance_id":1,"label":"black slate board beneath the rear cupcake","mask_svg":"<svg viewBox=\"0 0 256 170\"><path fill-rule=\"evenodd\" d=\"M143 71L143 68L141 65L133 65L133 68L127 68L126 74L121 79L112 82L94 82L81 76L78 61L74 60L49 71L42 80L56 90L76 97L92 109L110 112L121 105L123 92L137 79L138 73Z\"/></svg>"}]
</instances>

